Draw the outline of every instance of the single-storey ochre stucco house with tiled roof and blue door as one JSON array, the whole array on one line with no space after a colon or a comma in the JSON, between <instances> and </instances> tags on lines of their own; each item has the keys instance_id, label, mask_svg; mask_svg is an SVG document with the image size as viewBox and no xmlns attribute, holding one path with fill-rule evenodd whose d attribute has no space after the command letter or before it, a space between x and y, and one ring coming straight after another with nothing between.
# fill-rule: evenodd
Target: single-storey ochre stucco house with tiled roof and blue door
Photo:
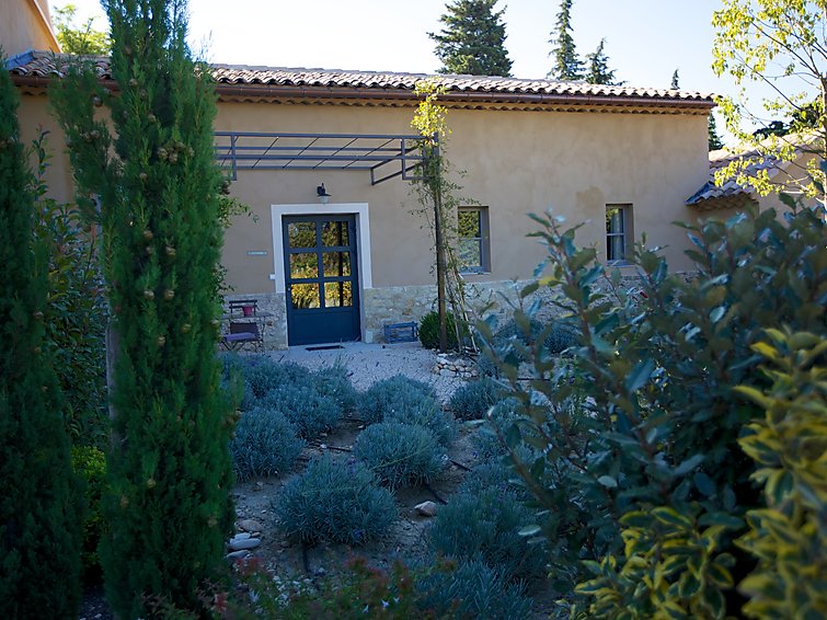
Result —
<instances>
[{"instance_id":1,"label":"single-storey ochre stucco house with tiled roof and blue door","mask_svg":"<svg viewBox=\"0 0 827 620\"><path fill-rule=\"evenodd\" d=\"M66 58L12 57L21 127L51 130L50 190L72 196L64 141L48 107ZM95 59L111 81L108 61ZM381 341L387 323L417 320L436 297L430 232L410 177L411 119L424 74L213 66L216 158L253 217L227 231L223 266L236 298L271 317L269 348ZM710 95L674 90L475 76L440 76L451 136L443 145L464 171L459 209L463 278L478 299L513 291L543 257L527 233L551 208L581 244L622 267L646 233L688 268L686 204L708 180ZM114 85L114 84L113 84ZM320 186L324 194L320 196Z\"/></svg>"}]
</instances>

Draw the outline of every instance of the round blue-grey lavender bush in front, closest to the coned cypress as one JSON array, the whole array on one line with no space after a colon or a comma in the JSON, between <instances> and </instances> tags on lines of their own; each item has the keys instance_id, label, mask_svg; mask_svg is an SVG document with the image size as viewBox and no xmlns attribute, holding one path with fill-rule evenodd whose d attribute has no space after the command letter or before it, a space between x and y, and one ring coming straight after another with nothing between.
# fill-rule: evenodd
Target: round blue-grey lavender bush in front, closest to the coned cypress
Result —
<instances>
[{"instance_id":1,"label":"round blue-grey lavender bush in front, closest to the coned cypress","mask_svg":"<svg viewBox=\"0 0 827 620\"><path fill-rule=\"evenodd\" d=\"M305 441L296 437L296 427L280 411L262 406L248 411L241 415L230 441L236 477L244 481L285 473L303 447Z\"/></svg>"}]
</instances>

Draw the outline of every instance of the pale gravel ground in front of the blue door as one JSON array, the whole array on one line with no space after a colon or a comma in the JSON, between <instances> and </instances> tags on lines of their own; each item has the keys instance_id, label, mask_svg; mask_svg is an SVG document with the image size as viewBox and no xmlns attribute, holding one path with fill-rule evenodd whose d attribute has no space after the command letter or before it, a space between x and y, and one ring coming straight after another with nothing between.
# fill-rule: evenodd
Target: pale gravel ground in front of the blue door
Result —
<instances>
[{"instance_id":1,"label":"pale gravel ground in front of the blue door","mask_svg":"<svg viewBox=\"0 0 827 620\"><path fill-rule=\"evenodd\" d=\"M312 348L312 347L310 347ZM275 351L269 356L276 361L294 361L308 368L343 364L357 390L367 390L375 382L394 375L406 375L434 387L439 400L447 402L464 380L433 372L436 353L420 343L365 344L344 343L336 348L308 351L295 346Z\"/></svg>"}]
</instances>

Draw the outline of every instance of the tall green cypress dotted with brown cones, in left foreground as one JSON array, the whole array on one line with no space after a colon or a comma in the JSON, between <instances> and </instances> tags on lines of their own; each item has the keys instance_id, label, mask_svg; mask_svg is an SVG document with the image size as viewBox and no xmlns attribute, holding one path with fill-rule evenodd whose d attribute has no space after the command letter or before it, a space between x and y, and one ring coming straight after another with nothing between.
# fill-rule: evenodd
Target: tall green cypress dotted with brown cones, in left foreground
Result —
<instances>
[{"instance_id":1,"label":"tall green cypress dotted with brown cones, in left foreground","mask_svg":"<svg viewBox=\"0 0 827 620\"><path fill-rule=\"evenodd\" d=\"M204 615L198 590L222 578L233 519L233 418L215 356L215 90L186 46L183 0L103 4L117 94L80 69L54 99L79 200L100 204L117 342L106 596L125 619L151 615L153 601ZM103 104L113 134L95 111Z\"/></svg>"}]
</instances>

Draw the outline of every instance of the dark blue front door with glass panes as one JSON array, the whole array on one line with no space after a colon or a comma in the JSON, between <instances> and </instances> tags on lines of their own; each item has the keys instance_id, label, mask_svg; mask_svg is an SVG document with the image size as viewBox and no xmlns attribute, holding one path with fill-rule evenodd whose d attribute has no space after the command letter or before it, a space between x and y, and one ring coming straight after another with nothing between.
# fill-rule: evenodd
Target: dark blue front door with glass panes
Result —
<instances>
[{"instance_id":1,"label":"dark blue front door with glass panes","mask_svg":"<svg viewBox=\"0 0 827 620\"><path fill-rule=\"evenodd\" d=\"M288 343L359 340L355 216L285 216L282 230Z\"/></svg>"}]
</instances>

